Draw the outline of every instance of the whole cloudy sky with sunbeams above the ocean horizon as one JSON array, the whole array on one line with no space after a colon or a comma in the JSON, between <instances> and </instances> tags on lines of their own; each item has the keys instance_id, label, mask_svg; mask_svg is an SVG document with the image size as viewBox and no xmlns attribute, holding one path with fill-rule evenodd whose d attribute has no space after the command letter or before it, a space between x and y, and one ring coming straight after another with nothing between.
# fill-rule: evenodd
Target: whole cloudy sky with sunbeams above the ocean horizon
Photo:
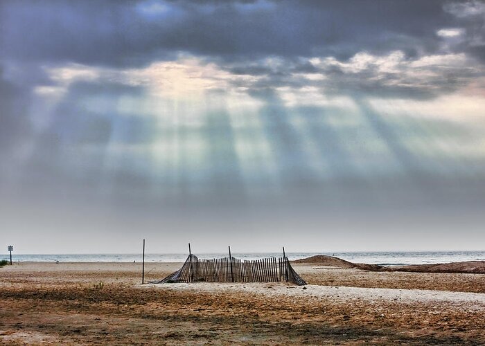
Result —
<instances>
[{"instance_id":1,"label":"whole cloudy sky with sunbeams above the ocean horizon","mask_svg":"<svg viewBox=\"0 0 485 346\"><path fill-rule=\"evenodd\" d=\"M485 249L485 2L0 2L0 246Z\"/></svg>"}]
</instances>

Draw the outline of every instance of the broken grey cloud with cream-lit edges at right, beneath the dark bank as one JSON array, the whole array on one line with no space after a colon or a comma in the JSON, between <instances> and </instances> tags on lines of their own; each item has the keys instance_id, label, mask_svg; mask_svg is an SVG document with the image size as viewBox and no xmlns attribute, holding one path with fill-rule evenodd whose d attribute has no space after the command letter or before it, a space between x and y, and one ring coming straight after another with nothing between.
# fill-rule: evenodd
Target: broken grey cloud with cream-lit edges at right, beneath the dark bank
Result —
<instances>
[{"instance_id":1,"label":"broken grey cloud with cream-lit edges at right, beneath the dark bank","mask_svg":"<svg viewBox=\"0 0 485 346\"><path fill-rule=\"evenodd\" d=\"M322 95L416 100L451 93L485 75L485 68L468 60L466 55L444 54L428 58L430 61L427 58L421 60L421 57L409 58L400 52L383 56L364 53L349 60L321 60L315 64L299 57L279 58L276 63L266 60L247 64L233 62L223 68L235 75L257 78L231 81L234 86L249 88L251 95L271 94L274 93L272 89L283 86L295 90L313 86ZM312 80L312 76L317 78Z\"/></svg>"}]
</instances>

